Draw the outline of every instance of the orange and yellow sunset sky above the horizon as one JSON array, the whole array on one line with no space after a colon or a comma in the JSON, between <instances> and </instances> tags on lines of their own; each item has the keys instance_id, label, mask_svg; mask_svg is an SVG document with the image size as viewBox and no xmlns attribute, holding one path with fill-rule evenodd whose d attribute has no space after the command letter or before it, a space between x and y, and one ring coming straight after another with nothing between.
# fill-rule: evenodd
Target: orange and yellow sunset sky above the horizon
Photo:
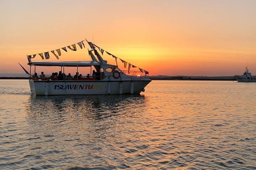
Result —
<instances>
[{"instance_id":1,"label":"orange and yellow sunset sky above the horizon","mask_svg":"<svg viewBox=\"0 0 256 170\"><path fill-rule=\"evenodd\" d=\"M0 73L23 73L26 55L93 34L150 75L235 75L246 66L256 74L255 8L255 0L0 0ZM62 51L60 61L90 60L87 47Z\"/></svg>"}]
</instances>

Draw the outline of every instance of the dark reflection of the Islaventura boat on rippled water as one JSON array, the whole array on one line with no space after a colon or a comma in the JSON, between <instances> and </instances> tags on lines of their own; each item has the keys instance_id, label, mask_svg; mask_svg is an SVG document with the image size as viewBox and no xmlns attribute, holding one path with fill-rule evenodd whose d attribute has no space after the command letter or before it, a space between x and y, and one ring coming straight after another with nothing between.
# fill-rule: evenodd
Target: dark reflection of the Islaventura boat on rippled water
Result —
<instances>
[{"instance_id":1,"label":"dark reflection of the Islaventura boat on rippled water","mask_svg":"<svg viewBox=\"0 0 256 170\"><path fill-rule=\"evenodd\" d=\"M90 95L90 96L35 96L31 95L30 117L47 114L76 114L92 119L101 119L112 114L122 114L127 109L134 113L145 110L145 97L133 95Z\"/></svg>"}]
</instances>

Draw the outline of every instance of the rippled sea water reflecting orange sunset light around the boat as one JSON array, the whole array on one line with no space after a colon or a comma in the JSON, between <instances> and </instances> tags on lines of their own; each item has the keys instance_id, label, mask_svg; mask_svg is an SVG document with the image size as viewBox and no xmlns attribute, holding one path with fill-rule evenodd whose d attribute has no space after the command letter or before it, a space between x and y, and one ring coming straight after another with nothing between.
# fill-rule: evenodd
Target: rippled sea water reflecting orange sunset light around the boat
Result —
<instances>
[{"instance_id":1,"label":"rippled sea water reflecting orange sunset light around the boat","mask_svg":"<svg viewBox=\"0 0 256 170\"><path fill-rule=\"evenodd\" d=\"M33 96L0 80L0 169L256 169L256 83Z\"/></svg>"}]
</instances>

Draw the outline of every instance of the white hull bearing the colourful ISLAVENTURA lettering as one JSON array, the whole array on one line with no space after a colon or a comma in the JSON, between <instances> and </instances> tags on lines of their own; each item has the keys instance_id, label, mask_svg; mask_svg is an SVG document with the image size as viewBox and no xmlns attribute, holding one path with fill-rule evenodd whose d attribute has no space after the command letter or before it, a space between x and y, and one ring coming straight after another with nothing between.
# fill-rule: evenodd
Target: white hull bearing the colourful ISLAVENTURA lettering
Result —
<instances>
[{"instance_id":1,"label":"white hull bearing the colourful ISLAVENTURA lettering","mask_svg":"<svg viewBox=\"0 0 256 170\"><path fill-rule=\"evenodd\" d=\"M36 95L107 95L139 94L150 79L125 81L42 81L29 80L32 94Z\"/></svg>"}]
</instances>

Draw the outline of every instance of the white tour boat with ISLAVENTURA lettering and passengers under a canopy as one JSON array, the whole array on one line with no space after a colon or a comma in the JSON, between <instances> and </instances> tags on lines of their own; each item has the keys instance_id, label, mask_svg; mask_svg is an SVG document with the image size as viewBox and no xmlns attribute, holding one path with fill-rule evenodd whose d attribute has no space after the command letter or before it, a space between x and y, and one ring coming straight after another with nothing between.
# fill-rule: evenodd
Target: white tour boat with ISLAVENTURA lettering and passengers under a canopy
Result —
<instances>
[{"instance_id":1,"label":"white tour boat with ISLAVENTURA lettering and passengers under a canopy","mask_svg":"<svg viewBox=\"0 0 256 170\"><path fill-rule=\"evenodd\" d=\"M119 69L117 65L108 64L99 53L95 52L94 48L88 51L92 59L91 61L32 62L28 60L28 65L30 66L29 75L31 75L31 68L33 69L34 67L34 73L36 73L36 68L41 66L59 66L63 73L65 73L65 67L76 67L77 72L79 72L80 67L90 67L90 70L96 70L94 76L92 76L91 73L90 77L78 78L77 75L71 80L67 80L65 75L61 80L53 77L41 79L39 75L34 78L33 75L31 75L31 79L29 80L31 93L46 96L139 94L140 92L144 92L145 86L151 82L151 80L146 77L148 72L145 70L131 71L129 70L131 68L129 66L128 72L132 73L132 75L128 75L126 74L127 70L124 71ZM97 59L92 51L94 51ZM138 75L138 73L143 71L145 72L144 76ZM28 74L27 71L26 73Z\"/></svg>"}]
</instances>

